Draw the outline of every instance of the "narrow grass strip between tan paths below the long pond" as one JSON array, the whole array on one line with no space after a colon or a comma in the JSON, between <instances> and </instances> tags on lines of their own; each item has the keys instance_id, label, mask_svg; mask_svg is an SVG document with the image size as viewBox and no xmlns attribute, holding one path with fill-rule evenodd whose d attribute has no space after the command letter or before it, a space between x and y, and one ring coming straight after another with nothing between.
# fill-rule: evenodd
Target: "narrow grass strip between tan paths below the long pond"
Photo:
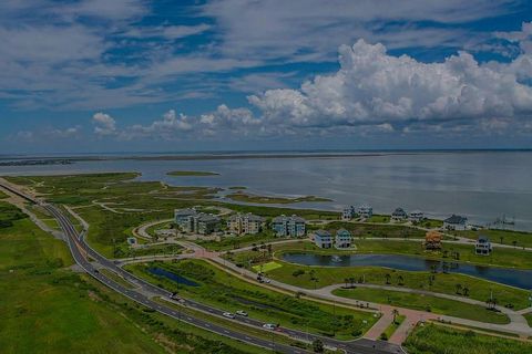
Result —
<instances>
[{"instance_id":1,"label":"narrow grass strip between tan paths below the long pond","mask_svg":"<svg viewBox=\"0 0 532 354\"><path fill-rule=\"evenodd\" d=\"M487 310L485 306L437 296L366 288L337 289L332 293L349 299L385 303L393 306L428 311L480 322L498 324L510 322L510 319L507 315Z\"/></svg>"}]
</instances>

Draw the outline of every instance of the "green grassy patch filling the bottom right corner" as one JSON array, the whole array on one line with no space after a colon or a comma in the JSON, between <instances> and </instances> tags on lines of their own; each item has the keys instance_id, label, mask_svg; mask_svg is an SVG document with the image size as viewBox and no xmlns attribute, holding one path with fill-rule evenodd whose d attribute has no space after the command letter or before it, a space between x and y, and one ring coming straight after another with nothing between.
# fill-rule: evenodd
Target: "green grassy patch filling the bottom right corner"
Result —
<instances>
[{"instance_id":1,"label":"green grassy patch filling the bottom right corner","mask_svg":"<svg viewBox=\"0 0 532 354\"><path fill-rule=\"evenodd\" d=\"M532 344L436 324L417 326L403 346L410 354L524 354Z\"/></svg>"}]
</instances>

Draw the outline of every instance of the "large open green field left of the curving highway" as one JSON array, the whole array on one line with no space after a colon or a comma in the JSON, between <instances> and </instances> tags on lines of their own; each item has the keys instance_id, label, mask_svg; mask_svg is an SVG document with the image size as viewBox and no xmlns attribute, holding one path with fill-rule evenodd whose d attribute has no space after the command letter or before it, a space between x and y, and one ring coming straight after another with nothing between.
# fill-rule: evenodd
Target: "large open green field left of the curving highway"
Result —
<instances>
[{"instance_id":1,"label":"large open green field left of the curving highway","mask_svg":"<svg viewBox=\"0 0 532 354\"><path fill-rule=\"evenodd\" d=\"M23 353L262 353L180 323L70 271L64 242L0 202L0 347Z\"/></svg>"}]
</instances>

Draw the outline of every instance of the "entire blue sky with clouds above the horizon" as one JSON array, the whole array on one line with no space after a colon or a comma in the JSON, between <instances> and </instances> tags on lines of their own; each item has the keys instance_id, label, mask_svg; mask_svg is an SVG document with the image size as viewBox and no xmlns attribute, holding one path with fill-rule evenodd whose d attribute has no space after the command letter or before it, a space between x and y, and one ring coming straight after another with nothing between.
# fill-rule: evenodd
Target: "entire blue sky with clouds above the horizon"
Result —
<instances>
[{"instance_id":1,"label":"entire blue sky with clouds above the horizon","mask_svg":"<svg viewBox=\"0 0 532 354\"><path fill-rule=\"evenodd\" d=\"M0 154L532 148L530 1L0 2Z\"/></svg>"}]
</instances>

